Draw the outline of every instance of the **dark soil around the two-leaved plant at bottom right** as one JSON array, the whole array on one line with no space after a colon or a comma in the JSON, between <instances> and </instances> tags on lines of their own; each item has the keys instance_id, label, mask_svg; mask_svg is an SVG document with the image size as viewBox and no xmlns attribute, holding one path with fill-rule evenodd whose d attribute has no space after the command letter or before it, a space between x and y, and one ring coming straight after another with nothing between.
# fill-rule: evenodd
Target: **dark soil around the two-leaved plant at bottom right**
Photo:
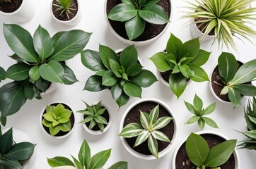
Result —
<instances>
[{"instance_id":1,"label":"dark soil around the two-leaved plant at bottom right","mask_svg":"<svg viewBox=\"0 0 256 169\"><path fill-rule=\"evenodd\" d=\"M211 149L213 146L216 146L217 144L220 144L222 142L225 142L226 140L216 136L214 134L202 134L202 137L206 139L206 142L209 145L209 148ZM190 158L187 156L187 151L185 148L185 143L180 146L180 149L178 151L178 154L176 156L175 161L175 167L176 169L196 169L197 167L194 166L194 164L190 161ZM232 154L230 158L228 158L228 161L220 166L223 169L234 169L235 168L235 157Z\"/></svg>"}]
</instances>

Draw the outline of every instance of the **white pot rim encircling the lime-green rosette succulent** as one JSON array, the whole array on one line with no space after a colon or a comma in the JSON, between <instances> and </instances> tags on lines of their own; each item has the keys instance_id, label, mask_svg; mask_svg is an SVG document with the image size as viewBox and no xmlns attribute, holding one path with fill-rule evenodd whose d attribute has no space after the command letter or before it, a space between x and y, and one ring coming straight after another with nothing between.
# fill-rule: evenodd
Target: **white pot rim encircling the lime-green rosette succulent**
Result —
<instances>
[{"instance_id":1,"label":"white pot rim encircling the lime-green rosette succulent","mask_svg":"<svg viewBox=\"0 0 256 169\"><path fill-rule=\"evenodd\" d=\"M48 106L48 105L52 105L52 104L65 104L66 106L69 106L69 104L66 104L66 103L63 102L63 101L55 101L55 102L52 102L51 104L47 104L47 106ZM71 106L69 106L69 108L71 109L71 111L72 111L72 113L73 113L73 115L74 115L74 125L73 125L73 127L71 128L71 130L70 130L68 133L66 133L65 135L63 135L63 136L52 136L50 133L48 133L47 131L45 131L45 128L44 128L43 125L42 125L42 115L45 113L46 106L45 106L45 108L42 109L42 112L40 113L40 121L39 121L39 123L40 123L40 127L41 127L42 131L43 131L48 137L51 137L51 138L54 138L54 139L64 139L64 138L68 137L72 132L74 132L74 128L75 128L75 125L76 125L76 116L75 116L75 113L74 113L74 111L72 110Z\"/></svg>"}]
</instances>

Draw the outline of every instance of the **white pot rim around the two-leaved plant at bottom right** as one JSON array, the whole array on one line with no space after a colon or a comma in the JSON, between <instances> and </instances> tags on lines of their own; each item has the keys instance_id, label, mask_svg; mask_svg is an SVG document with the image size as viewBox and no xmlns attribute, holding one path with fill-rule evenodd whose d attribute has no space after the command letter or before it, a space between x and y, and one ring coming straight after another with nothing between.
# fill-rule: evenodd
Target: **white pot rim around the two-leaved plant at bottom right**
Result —
<instances>
[{"instance_id":1,"label":"white pot rim around the two-leaved plant at bottom right","mask_svg":"<svg viewBox=\"0 0 256 169\"><path fill-rule=\"evenodd\" d=\"M196 134L214 134L216 136L219 136L223 139L228 140L228 137L224 136L223 134L219 133L219 132L214 132L214 131L201 131L201 132L197 132ZM175 149L174 154L173 154L173 169L176 168L175 162L176 162L176 156L178 154L178 151L180 149L180 146L182 146L182 144L184 144L186 142L187 138L180 143L180 145L178 145L178 147ZM233 156L235 157L235 169L240 169L240 158L239 158L239 154L238 154L238 150L235 149L233 151Z\"/></svg>"}]
</instances>

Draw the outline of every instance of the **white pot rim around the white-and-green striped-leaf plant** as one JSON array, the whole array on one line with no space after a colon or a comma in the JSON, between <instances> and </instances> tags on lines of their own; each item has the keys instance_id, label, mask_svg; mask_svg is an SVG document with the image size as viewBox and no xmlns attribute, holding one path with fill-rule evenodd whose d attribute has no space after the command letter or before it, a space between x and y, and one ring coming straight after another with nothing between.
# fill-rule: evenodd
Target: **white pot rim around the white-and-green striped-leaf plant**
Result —
<instances>
[{"instance_id":1,"label":"white pot rim around the white-and-green striped-leaf plant","mask_svg":"<svg viewBox=\"0 0 256 169\"><path fill-rule=\"evenodd\" d=\"M124 114L122 115L122 119L121 119L121 122L120 122L120 132L122 131L123 129L123 126L124 126L124 119L126 118L127 116L127 113L129 113L129 111L134 108L134 106L136 106L137 104L140 104L142 102L145 102L145 101L153 101L157 104L160 104L161 106L163 106L169 113L170 115L173 117L173 124L174 124L174 133L173 133L173 139L170 140L170 144L165 148L163 149L163 151L161 152L158 152L158 158L161 158L163 156L165 156L165 154L168 154L168 152L170 151L170 149L172 149L172 144L175 140L175 137L176 137L176 133L177 133L177 125L176 125L176 122L175 122L175 116L173 115L173 111L170 109L170 107L165 104L163 101L159 100L159 99L154 99L154 98L145 98L145 99L140 99L139 101L135 101L131 106L129 106L127 108L127 110L124 112ZM157 159L156 157L154 157L153 155L145 155L145 154L140 154L139 152L137 151L134 151L134 149L132 149L128 144L127 142L125 141L125 138L124 137L120 137L121 139L121 142L122 144L124 145L124 148L127 149L127 151L132 154L133 156L135 156L136 158L140 158L140 159L143 159L143 160L155 160Z\"/></svg>"}]
</instances>

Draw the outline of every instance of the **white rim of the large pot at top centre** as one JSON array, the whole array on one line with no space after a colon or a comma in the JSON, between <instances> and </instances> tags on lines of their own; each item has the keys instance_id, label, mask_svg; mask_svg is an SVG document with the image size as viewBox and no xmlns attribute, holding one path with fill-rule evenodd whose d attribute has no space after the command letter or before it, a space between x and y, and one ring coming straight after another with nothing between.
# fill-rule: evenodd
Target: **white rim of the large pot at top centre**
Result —
<instances>
[{"instance_id":1,"label":"white rim of the large pot at top centre","mask_svg":"<svg viewBox=\"0 0 256 169\"><path fill-rule=\"evenodd\" d=\"M170 1L170 16L169 16L169 20L171 22L172 17L173 17L173 0L169 0ZM105 0L104 2L104 15L105 15L105 20L107 22L107 27L109 28L110 32L112 32L112 34L117 37L117 39L119 39L121 42L123 42L124 44L134 44L135 46L146 46L149 45L151 43L153 43L154 41L156 41L156 39L158 39L159 37L161 37L165 31L168 29L168 27L170 26L170 22L167 23L167 25L165 26L165 28L162 30L162 32L157 35L156 37L153 37L151 39L145 40L145 41L130 41L129 39L124 39L123 37L121 37L120 35L117 34L117 32L115 32L115 30L112 28L112 26L110 25L109 20L107 19L107 0Z\"/></svg>"}]
</instances>

